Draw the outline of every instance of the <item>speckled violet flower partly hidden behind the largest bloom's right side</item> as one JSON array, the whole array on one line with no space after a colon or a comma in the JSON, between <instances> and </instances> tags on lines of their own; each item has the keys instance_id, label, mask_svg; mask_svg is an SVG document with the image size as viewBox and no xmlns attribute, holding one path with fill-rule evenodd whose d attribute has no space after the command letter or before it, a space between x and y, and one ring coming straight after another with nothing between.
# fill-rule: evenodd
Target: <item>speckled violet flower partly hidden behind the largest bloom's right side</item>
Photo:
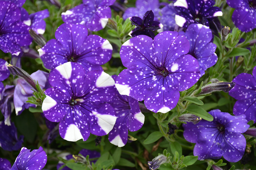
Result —
<instances>
[{"instance_id":1,"label":"speckled violet flower partly hidden behind the largest bloom's right side","mask_svg":"<svg viewBox=\"0 0 256 170\"><path fill-rule=\"evenodd\" d=\"M205 70L216 64L218 60L218 56L214 53L217 46L211 42L212 31L202 24L191 24L184 35L190 44L188 54L197 59L200 74L203 76Z\"/></svg>"}]
</instances>

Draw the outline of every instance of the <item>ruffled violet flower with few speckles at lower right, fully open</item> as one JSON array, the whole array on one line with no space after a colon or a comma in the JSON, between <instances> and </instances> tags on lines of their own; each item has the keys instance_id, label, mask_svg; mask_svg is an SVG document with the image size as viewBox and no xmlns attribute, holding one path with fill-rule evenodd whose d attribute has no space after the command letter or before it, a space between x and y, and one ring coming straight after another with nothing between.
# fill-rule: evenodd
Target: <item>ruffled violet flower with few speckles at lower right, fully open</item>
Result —
<instances>
[{"instance_id":1,"label":"ruffled violet flower with few speckles at lower right, fully open","mask_svg":"<svg viewBox=\"0 0 256 170\"><path fill-rule=\"evenodd\" d=\"M196 143L194 155L198 160L220 159L222 156L229 162L242 159L246 147L244 133L250 125L245 115L232 116L219 109L209 112L213 121L202 120L183 124L184 137L187 141Z\"/></svg>"}]
</instances>

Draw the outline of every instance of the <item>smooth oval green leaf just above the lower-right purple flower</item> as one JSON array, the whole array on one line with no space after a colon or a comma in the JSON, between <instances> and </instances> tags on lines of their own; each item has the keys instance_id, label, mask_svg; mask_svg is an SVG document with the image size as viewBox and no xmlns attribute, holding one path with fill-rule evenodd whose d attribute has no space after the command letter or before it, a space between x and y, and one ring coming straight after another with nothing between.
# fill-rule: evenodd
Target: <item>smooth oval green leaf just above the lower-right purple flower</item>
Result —
<instances>
[{"instance_id":1,"label":"smooth oval green leaf just above the lower-right purple flower","mask_svg":"<svg viewBox=\"0 0 256 170\"><path fill-rule=\"evenodd\" d=\"M189 105L188 108L188 113L195 114L199 117L202 117L202 119L206 121L213 121L212 115L210 115L208 112L206 112L202 107L197 106L197 105Z\"/></svg>"}]
</instances>

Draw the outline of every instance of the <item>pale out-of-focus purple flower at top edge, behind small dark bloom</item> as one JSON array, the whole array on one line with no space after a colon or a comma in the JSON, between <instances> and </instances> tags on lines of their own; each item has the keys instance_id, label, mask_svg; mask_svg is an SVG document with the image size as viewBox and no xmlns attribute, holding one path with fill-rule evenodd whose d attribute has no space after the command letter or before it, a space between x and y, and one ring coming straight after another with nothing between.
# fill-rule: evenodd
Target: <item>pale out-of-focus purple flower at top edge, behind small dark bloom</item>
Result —
<instances>
[{"instance_id":1,"label":"pale out-of-focus purple flower at top edge, behind small dark bloom","mask_svg":"<svg viewBox=\"0 0 256 170\"><path fill-rule=\"evenodd\" d=\"M135 4L135 8L131 7L128 8L123 15L123 18L129 17L140 17L143 18L144 14L147 11L153 11L155 14L154 20L157 20L158 12L159 12L159 2L158 0L137 0Z\"/></svg>"}]
</instances>

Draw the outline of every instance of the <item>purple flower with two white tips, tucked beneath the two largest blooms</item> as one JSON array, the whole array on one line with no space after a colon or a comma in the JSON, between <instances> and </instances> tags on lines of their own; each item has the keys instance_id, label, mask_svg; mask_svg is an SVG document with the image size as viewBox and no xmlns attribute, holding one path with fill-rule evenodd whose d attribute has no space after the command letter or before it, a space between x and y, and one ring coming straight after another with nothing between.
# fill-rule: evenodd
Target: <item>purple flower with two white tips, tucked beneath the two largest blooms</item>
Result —
<instances>
[{"instance_id":1,"label":"purple flower with two white tips, tucked beneath the two largest blooms","mask_svg":"<svg viewBox=\"0 0 256 170\"><path fill-rule=\"evenodd\" d=\"M116 79L116 75L113 76ZM108 140L111 144L123 147L127 143L128 130L134 132L144 124L145 116L140 112L138 100L121 95L116 90L112 100L108 102L116 110L116 124L109 132Z\"/></svg>"}]
</instances>

